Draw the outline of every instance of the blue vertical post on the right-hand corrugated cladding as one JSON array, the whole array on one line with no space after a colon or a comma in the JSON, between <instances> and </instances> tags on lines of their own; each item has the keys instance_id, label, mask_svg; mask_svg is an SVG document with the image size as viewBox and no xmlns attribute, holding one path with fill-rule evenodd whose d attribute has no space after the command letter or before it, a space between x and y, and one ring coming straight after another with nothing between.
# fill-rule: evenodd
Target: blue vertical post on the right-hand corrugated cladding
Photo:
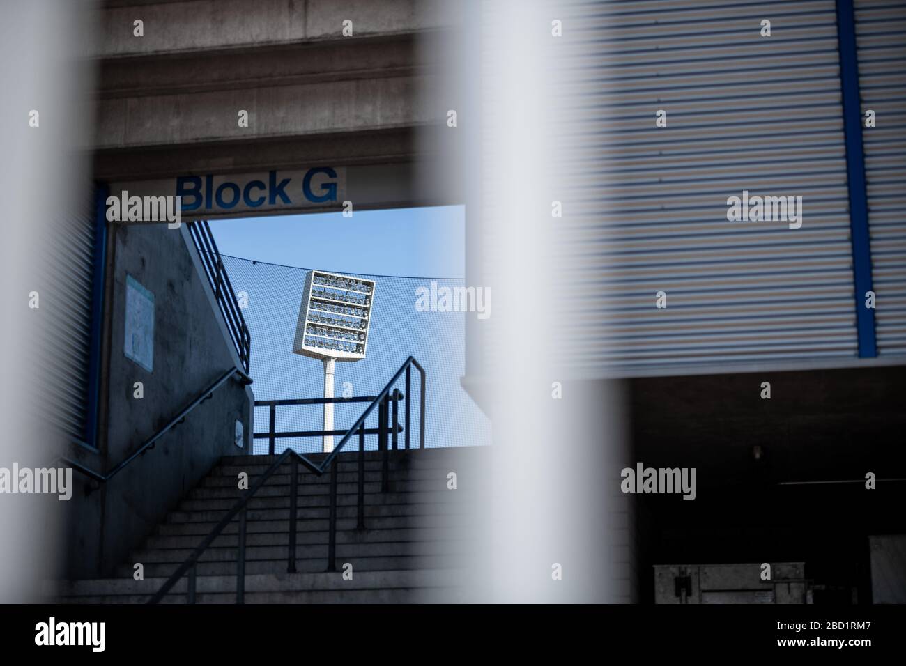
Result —
<instances>
[{"instance_id":1,"label":"blue vertical post on the right-hand corrugated cladding","mask_svg":"<svg viewBox=\"0 0 906 666\"><path fill-rule=\"evenodd\" d=\"M859 99L853 0L837 0L837 37L840 44L843 132L846 138L846 177L853 240L856 332L859 337L859 357L871 358L878 355L878 346L874 332L874 310L865 307L865 292L872 291L872 246L868 231L868 197L865 191L865 155L862 145L863 115Z\"/></svg>"}]
</instances>

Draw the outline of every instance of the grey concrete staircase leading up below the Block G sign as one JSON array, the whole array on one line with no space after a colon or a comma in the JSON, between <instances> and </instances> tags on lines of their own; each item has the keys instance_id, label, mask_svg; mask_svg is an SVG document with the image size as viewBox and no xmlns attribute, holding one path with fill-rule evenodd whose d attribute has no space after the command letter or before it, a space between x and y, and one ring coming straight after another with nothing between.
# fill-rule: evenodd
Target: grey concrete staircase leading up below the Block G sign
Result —
<instances>
[{"instance_id":1,"label":"grey concrete staircase leading up below the Block G sign","mask_svg":"<svg viewBox=\"0 0 906 666\"><path fill-rule=\"evenodd\" d=\"M485 448L390 451L390 487L381 493L381 458L366 453L365 529L356 529L358 453L339 456L336 572L327 573L330 473L316 477L300 467L295 574L286 572L289 541L289 464L278 470L248 505L246 603L410 603L462 601L458 588L464 557L475 543L477 482L487 465ZM322 458L323 454L311 456ZM244 490L275 462L275 456L223 458L114 578L56 584L50 593L68 603L144 603L157 592L226 515ZM456 472L458 489L448 489ZM236 602L238 521L207 548L198 562L197 603ZM133 565L144 565L144 580ZM352 580L343 565L352 565ZM162 603L185 603L186 577Z\"/></svg>"}]
</instances>

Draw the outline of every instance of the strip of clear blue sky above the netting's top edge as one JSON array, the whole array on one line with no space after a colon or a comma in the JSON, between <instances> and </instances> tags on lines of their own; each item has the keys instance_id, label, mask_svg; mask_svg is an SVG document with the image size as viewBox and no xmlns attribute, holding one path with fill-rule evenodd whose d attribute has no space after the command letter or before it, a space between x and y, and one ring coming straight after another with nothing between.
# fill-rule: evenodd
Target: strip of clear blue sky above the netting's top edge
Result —
<instances>
[{"instance_id":1,"label":"strip of clear blue sky above the netting's top edge","mask_svg":"<svg viewBox=\"0 0 906 666\"><path fill-rule=\"evenodd\" d=\"M211 221L220 253L337 273L465 277L462 206Z\"/></svg>"}]
</instances>

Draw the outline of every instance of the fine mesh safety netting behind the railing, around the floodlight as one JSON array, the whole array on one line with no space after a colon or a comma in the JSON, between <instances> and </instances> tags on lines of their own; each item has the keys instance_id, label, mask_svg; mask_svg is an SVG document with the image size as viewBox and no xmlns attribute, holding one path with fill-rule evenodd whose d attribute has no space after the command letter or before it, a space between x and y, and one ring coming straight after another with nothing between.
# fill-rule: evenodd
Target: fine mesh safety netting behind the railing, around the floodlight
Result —
<instances>
[{"instance_id":1,"label":"fine mesh safety netting behind the railing, around the floodlight","mask_svg":"<svg viewBox=\"0 0 906 666\"><path fill-rule=\"evenodd\" d=\"M273 401L323 396L323 362L293 352L296 322L302 303L305 278L310 269L275 265L235 256L223 256L224 266L243 305L252 337L251 375L255 401ZM374 300L366 356L361 361L337 362L334 395L377 395L413 356L427 372L425 391L425 447L480 446L490 443L490 422L462 388L465 363L465 319L462 312L422 312L419 287L437 291L443 286L462 287L463 280L431 277L364 275L374 280ZM432 283L436 283L432 285ZM424 309L424 308L422 308ZM474 315L473 315L474 316ZM405 391L405 379L396 388ZM419 373L411 375L410 445L419 443ZM334 429L348 430L368 406L365 402L337 402ZM400 424L405 404L400 402ZM371 412L367 428L378 427L378 410ZM323 406L279 406L275 411L277 432L323 429ZM255 432L269 430L269 407L255 406ZM339 443L340 438L334 438ZM404 436L400 434L400 447ZM365 448L375 449L377 437L366 437ZM321 438L284 438L275 442L275 452L292 448L300 453L320 451ZM268 452L267 439L255 439L253 452ZM357 450L352 438L344 450Z\"/></svg>"}]
</instances>

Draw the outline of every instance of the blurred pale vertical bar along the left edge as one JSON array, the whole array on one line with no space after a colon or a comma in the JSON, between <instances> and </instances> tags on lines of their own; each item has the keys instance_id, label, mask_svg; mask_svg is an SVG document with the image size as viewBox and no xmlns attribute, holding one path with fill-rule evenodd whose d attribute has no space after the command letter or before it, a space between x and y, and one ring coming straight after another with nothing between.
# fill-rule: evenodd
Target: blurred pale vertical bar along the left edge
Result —
<instances>
[{"instance_id":1,"label":"blurred pale vertical bar along the left edge","mask_svg":"<svg viewBox=\"0 0 906 666\"><path fill-rule=\"evenodd\" d=\"M0 242L0 467L46 467L63 452L47 428L47 382L54 350L42 343L53 326L53 253L66 251L67 211L91 196L92 142L84 100L91 65L93 5L72 0L19 0L0 20L0 182L4 184ZM30 112L38 126L30 127ZM29 307L32 292L39 307ZM65 332L63 332L65 334ZM73 478L81 492L81 479ZM0 494L0 603L38 601L40 581L55 572L65 502L55 495Z\"/></svg>"}]
</instances>

